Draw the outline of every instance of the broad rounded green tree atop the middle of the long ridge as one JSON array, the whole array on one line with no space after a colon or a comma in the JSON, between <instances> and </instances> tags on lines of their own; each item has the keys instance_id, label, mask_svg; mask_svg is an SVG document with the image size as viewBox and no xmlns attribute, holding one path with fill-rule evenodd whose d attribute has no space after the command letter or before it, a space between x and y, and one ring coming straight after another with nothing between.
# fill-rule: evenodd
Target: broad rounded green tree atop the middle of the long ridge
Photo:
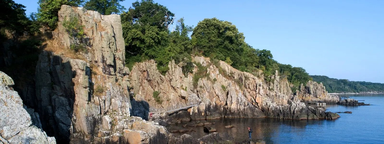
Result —
<instances>
[{"instance_id":1,"label":"broad rounded green tree atop the middle of the long ridge","mask_svg":"<svg viewBox=\"0 0 384 144\"><path fill-rule=\"evenodd\" d=\"M200 21L192 33L195 51L201 50L204 56L222 61L231 57L235 68L241 63L244 39L243 33L239 33L235 25L217 18Z\"/></svg>"}]
</instances>

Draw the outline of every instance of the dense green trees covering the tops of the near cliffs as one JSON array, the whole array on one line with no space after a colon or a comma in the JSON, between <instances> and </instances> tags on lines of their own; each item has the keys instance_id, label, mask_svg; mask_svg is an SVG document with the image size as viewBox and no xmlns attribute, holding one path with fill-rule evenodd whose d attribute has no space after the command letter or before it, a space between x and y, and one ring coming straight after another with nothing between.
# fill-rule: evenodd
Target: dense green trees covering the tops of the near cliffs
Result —
<instances>
[{"instance_id":1,"label":"dense green trees covering the tops of the near cliffs","mask_svg":"<svg viewBox=\"0 0 384 144\"><path fill-rule=\"evenodd\" d=\"M9 73L11 77L25 75L16 80L19 82L24 82L26 77L33 75L38 54L43 48L39 29L55 30L61 5L70 5L98 11L103 15L121 15L126 66L129 68L136 62L154 59L158 70L166 74L169 61L175 60L188 73L192 72L194 65L191 56L205 56L213 61L225 61L244 72L263 74L266 81L271 81L268 76L278 70L279 75L292 83L293 92L300 83L312 79L305 69L280 64L273 59L271 51L254 49L245 43L243 33L229 21L205 18L196 26L188 26L185 25L184 18L175 19L175 14L166 6L153 0L136 1L129 8L120 5L121 1L123 0L39 0L38 12L26 15L23 9L25 6L12 0L1 0L0 42L8 41L6 32L27 36L27 39L14 41L11 48L0 47L3 57L8 57L8 51L12 51L12 57L17 59L12 64L1 61L0 70ZM79 22L71 20L69 24L77 28L77 33L81 33ZM26 68L28 74L24 74L26 71L21 68Z\"/></svg>"}]
</instances>

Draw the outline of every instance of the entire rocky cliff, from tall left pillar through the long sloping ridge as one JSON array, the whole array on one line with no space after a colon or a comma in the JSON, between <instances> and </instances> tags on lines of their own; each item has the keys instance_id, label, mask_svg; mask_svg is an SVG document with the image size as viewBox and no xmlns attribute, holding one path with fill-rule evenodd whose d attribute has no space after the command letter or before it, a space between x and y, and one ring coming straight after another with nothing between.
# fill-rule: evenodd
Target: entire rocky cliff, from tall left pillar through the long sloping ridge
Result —
<instances>
[{"instance_id":1,"label":"entire rocky cliff, from tall left pillar through the long sloping ridge","mask_svg":"<svg viewBox=\"0 0 384 144\"><path fill-rule=\"evenodd\" d=\"M186 106L189 103L199 105L163 117L184 120L338 117L300 101L306 99L303 97L321 99L322 94L319 96L317 91L323 89L303 89L301 94L293 95L290 83L281 79L277 72L269 77L271 81L266 81L263 75L241 72L223 61L214 62L198 56L193 57L194 73L186 75L174 61L169 62L166 75L157 70L153 60L137 63L130 71L124 66L124 39L119 15L104 16L96 11L63 5L58 16L58 28L51 33L52 39L44 45L45 51L38 57L35 85L25 87L21 92L22 101L30 107L27 111L31 116L22 115L27 122L18 132L26 130L24 128L33 128L33 131L41 128L48 136L55 136L57 143L64 144L202 143L204 139L192 140L186 135L176 138L158 123L146 121L150 108ZM70 18L76 18L83 25L84 38L79 42L87 51L70 51L73 41L63 27L63 21ZM155 91L159 92L156 96ZM7 93L4 97L12 98L12 95ZM20 107L21 100L16 100L16 103ZM1 116L2 124L3 116L6 115ZM35 137L44 137L44 132L39 131L40 135ZM2 142L17 136L14 134L17 133L2 134ZM50 137L46 138L47 143L52 142ZM220 139L226 141L230 137ZM217 141L207 143L212 142Z\"/></svg>"}]
</instances>

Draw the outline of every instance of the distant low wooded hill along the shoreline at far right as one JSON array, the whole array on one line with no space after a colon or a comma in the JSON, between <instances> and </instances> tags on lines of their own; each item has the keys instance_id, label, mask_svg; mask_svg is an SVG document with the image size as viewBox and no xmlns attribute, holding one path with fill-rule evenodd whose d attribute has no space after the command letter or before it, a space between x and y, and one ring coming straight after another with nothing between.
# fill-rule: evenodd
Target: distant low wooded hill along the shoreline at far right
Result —
<instances>
[{"instance_id":1,"label":"distant low wooded hill along the shoreline at far right","mask_svg":"<svg viewBox=\"0 0 384 144\"><path fill-rule=\"evenodd\" d=\"M311 75L313 81L323 83L329 93L384 92L384 83L354 82L346 79L332 79L323 75Z\"/></svg>"}]
</instances>

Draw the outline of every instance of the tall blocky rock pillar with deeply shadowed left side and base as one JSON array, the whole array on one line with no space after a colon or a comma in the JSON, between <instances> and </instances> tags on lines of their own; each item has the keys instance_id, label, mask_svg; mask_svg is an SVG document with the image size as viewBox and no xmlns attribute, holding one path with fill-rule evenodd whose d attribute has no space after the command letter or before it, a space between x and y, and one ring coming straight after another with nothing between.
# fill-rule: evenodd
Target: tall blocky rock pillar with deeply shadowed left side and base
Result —
<instances>
[{"instance_id":1,"label":"tall blocky rock pillar with deeply shadowed left side and base","mask_svg":"<svg viewBox=\"0 0 384 144\"><path fill-rule=\"evenodd\" d=\"M63 144L174 143L163 126L131 116L142 103L130 98L120 16L68 5L61 6L58 16L47 44L50 51L39 55L35 93L23 97L35 109L30 113L38 114L32 117L40 120L38 126ZM60 52L70 49L71 37L62 23L73 17L84 25L82 43L88 52Z\"/></svg>"}]
</instances>

